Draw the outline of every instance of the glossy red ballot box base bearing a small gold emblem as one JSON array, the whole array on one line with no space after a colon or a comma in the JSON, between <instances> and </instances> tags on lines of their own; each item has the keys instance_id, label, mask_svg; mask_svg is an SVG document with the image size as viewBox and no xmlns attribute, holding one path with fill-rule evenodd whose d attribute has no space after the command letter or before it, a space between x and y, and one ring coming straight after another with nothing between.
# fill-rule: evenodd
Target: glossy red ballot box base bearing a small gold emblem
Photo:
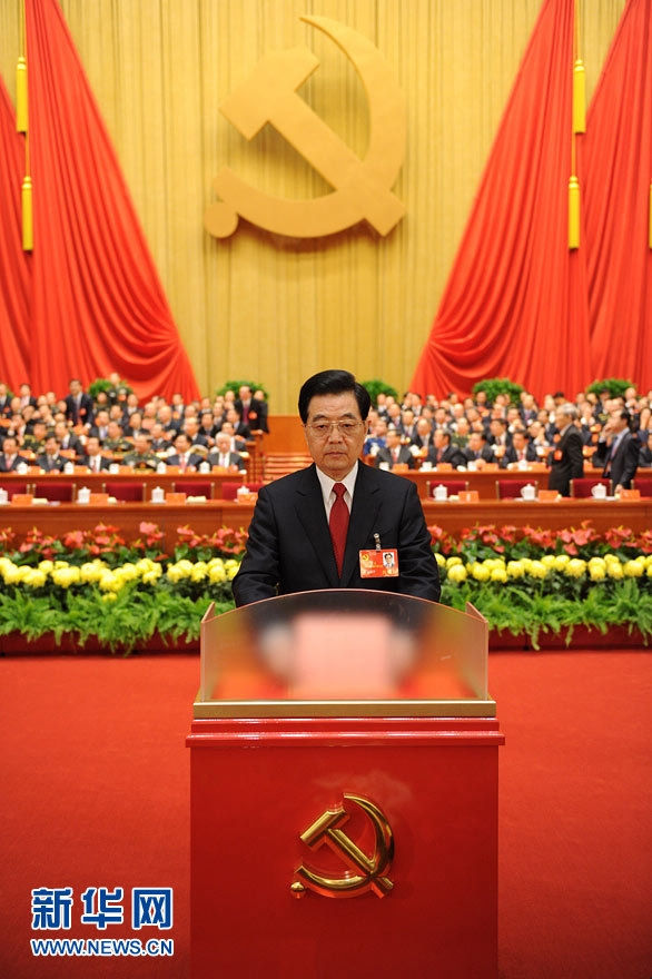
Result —
<instances>
[{"instance_id":1,"label":"glossy red ballot box base bearing a small gold emblem","mask_svg":"<svg viewBox=\"0 0 652 979\"><path fill-rule=\"evenodd\" d=\"M490 718L195 720L192 979L495 977L502 742Z\"/></svg>"}]
</instances>

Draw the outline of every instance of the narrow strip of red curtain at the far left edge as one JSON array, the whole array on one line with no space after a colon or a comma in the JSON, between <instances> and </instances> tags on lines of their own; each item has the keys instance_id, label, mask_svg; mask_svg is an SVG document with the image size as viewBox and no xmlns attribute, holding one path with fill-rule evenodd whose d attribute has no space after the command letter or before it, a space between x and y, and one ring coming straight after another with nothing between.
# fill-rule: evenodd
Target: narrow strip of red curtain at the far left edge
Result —
<instances>
[{"instance_id":1,"label":"narrow strip of red curtain at the far left edge","mask_svg":"<svg viewBox=\"0 0 652 979\"><path fill-rule=\"evenodd\" d=\"M24 137L0 78L0 380L17 392L30 377L31 256L22 250L20 187Z\"/></svg>"}]
</instances>

